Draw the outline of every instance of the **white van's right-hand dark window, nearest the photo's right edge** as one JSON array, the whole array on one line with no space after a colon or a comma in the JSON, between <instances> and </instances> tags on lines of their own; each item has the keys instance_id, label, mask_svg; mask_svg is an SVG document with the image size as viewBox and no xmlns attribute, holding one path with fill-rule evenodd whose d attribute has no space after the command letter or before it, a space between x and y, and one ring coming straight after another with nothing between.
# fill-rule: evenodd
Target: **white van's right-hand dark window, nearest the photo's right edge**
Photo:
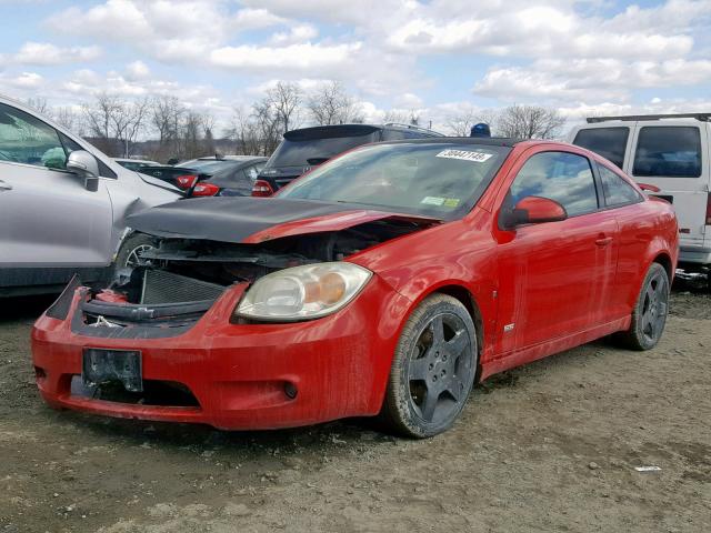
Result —
<instances>
[{"instance_id":1,"label":"white van's right-hand dark window, nearest the photo's right edge","mask_svg":"<svg viewBox=\"0 0 711 533\"><path fill-rule=\"evenodd\" d=\"M634 175L699 178L701 134L692 125L648 125L640 129Z\"/></svg>"}]
</instances>

